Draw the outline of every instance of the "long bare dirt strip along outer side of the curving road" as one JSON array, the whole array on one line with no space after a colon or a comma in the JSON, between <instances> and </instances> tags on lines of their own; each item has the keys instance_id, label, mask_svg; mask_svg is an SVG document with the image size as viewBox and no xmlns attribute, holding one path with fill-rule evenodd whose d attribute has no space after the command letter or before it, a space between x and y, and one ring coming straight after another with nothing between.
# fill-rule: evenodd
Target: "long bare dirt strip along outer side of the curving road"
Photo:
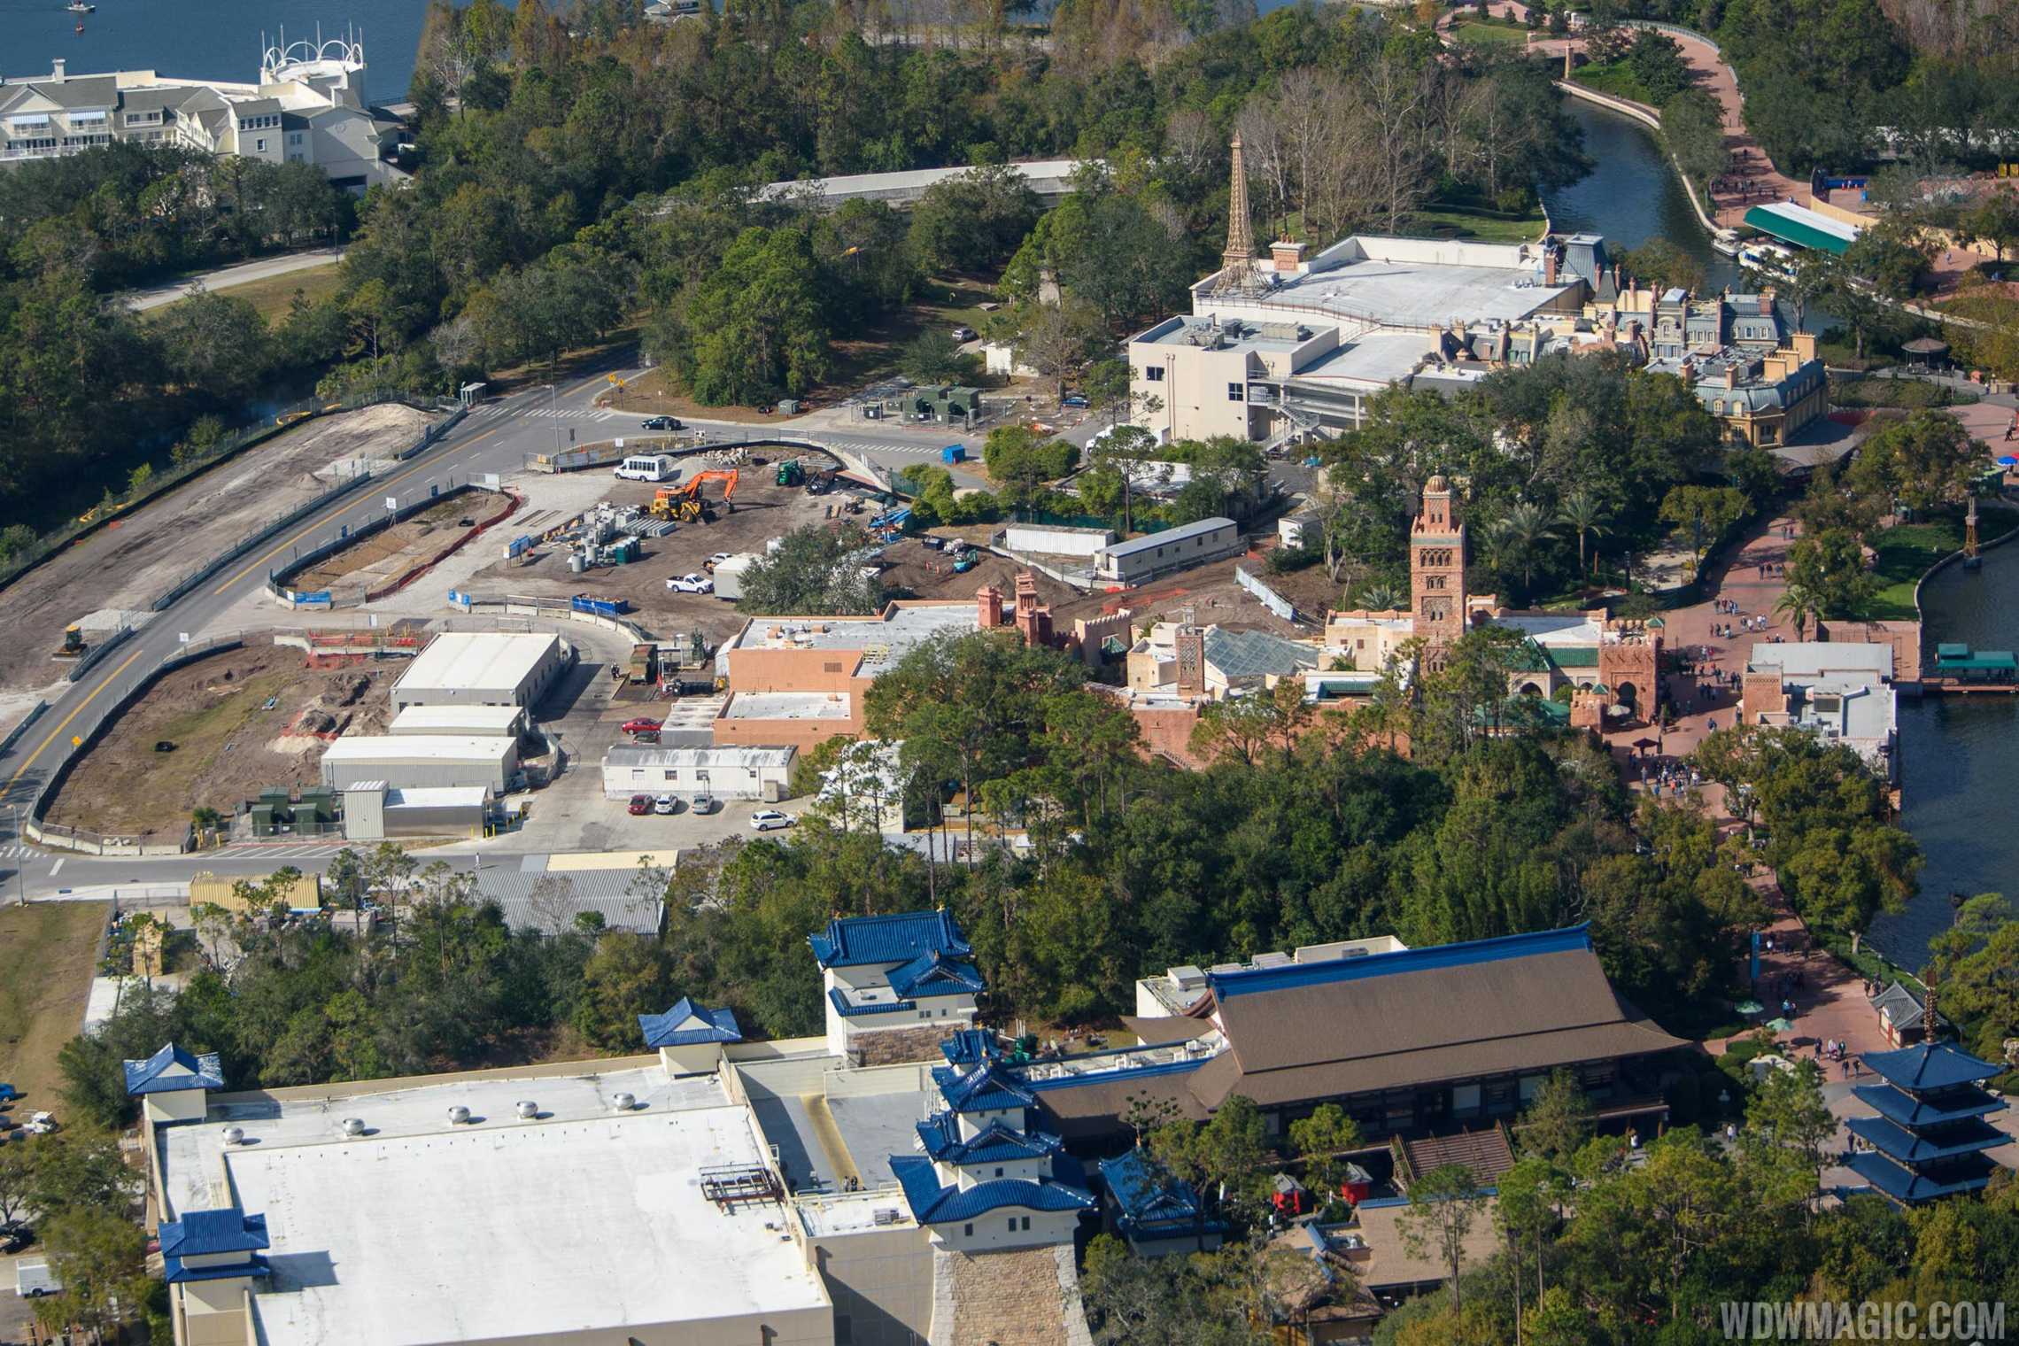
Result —
<instances>
[{"instance_id":1,"label":"long bare dirt strip along outer side of the curving road","mask_svg":"<svg viewBox=\"0 0 2019 1346\"><path fill-rule=\"evenodd\" d=\"M0 589L0 726L67 670L48 658L91 613L145 609L224 545L327 490L355 464L412 444L428 416L404 406L323 416L260 444L145 509L91 533Z\"/></svg>"}]
</instances>

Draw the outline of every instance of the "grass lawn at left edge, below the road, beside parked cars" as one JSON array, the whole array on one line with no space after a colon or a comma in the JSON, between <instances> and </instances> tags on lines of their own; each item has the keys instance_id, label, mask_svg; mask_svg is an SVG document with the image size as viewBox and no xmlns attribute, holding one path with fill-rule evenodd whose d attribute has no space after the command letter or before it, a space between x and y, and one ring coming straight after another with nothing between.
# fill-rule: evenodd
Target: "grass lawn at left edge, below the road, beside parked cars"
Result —
<instances>
[{"instance_id":1,"label":"grass lawn at left edge, below the road, beside parked cars","mask_svg":"<svg viewBox=\"0 0 2019 1346\"><path fill-rule=\"evenodd\" d=\"M91 995L91 955L107 902L34 902L0 908L0 1080L26 1112L59 1116L57 1051L77 1037Z\"/></svg>"}]
</instances>

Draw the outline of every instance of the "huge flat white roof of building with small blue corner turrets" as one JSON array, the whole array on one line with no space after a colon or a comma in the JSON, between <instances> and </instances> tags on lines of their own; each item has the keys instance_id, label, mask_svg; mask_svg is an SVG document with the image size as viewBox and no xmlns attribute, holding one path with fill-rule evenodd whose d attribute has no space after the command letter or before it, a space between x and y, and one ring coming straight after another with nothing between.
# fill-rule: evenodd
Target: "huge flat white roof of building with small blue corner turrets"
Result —
<instances>
[{"instance_id":1,"label":"huge flat white roof of building with small blue corner turrets","mask_svg":"<svg viewBox=\"0 0 2019 1346\"><path fill-rule=\"evenodd\" d=\"M369 1088L220 1100L204 1124L155 1132L174 1213L218 1205L228 1170L240 1207L267 1217L273 1279L254 1312L269 1346L608 1340L828 1312L785 1233L787 1211L717 1209L701 1193L701 1168L765 1158L749 1110L713 1078L668 1080L632 1063ZM644 1106L612 1112L620 1090ZM521 1122L519 1100L545 1116ZM450 1126L452 1104L483 1120ZM343 1140L337 1124L349 1116L369 1132ZM248 1144L224 1148L224 1122Z\"/></svg>"}]
</instances>

